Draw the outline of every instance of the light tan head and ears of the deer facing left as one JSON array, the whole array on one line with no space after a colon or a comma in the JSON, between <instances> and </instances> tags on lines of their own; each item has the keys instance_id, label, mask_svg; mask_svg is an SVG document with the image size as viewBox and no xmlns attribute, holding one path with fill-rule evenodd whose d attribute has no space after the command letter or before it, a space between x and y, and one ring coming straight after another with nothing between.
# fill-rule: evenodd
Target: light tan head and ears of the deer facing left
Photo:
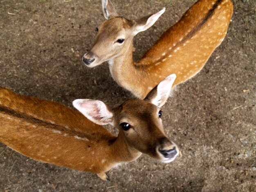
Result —
<instances>
[{"instance_id":1,"label":"light tan head and ears of the deer facing left","mask_svg":"<svg viewBox=\"0 0 256 192\"><path fill-rule=\"evenodd\" d=\"M88 67L95 67L105 61L112 60L133 49L133 37L151 27L164 13L161 11L140 18L128 20L118 16L110 0L102 0L102 9L107 19L96 28L97 36L92 49L83 56L83 62Z\"/></svg>"}]
</instances>

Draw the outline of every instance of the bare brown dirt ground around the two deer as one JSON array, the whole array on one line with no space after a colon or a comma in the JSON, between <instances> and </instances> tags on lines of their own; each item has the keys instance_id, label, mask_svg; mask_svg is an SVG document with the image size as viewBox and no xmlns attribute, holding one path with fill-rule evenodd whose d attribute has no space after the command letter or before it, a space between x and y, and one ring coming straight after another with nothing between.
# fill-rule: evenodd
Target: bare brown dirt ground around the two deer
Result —
<instances>
[{"instance_id":1,"label":"bare brown dirt ground around the two deer","mask_svg":"<svg viewBox=\"0 0 256 192\"><path fill-rule=\"evenodd\" d=\"M166 7L153 27L136 36L135 60L195 1L112 0L131 19ZM225 40L162 109L166 134L182 156L162 164L142 155L108 172L111 181L105 182L0 144L0 191L255 191L256 7L254 0L233 2ZM107 64L88 69L82 63L103 20L101 0L0 0L0 86L69 107L76 98L112 107L130 98Z\"/></svg>"}]
</instances>

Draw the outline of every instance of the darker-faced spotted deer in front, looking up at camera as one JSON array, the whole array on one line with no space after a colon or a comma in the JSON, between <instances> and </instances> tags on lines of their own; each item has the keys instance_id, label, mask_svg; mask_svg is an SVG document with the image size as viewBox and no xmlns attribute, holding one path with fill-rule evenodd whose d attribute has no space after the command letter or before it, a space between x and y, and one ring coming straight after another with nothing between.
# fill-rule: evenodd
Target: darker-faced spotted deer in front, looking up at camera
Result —
<instances>
[{"instance_id":1,"label":"darker-faced spotted deer in front, looking up at camera","mask_svg":"<svg viewBox=\"0 0 256 192\"><path fill-rule=\"evenodd\" d=\"M175 78L162 80L144 100L114 109L100 100L76 99L78 111L0 87L0 142L36 161L96 173L104 181L110 169L142 153L170 163L179 149L164 133L160 107ZM102 126L108 124L119 129L118 136Z\"/></svg>"}]
</instances>

